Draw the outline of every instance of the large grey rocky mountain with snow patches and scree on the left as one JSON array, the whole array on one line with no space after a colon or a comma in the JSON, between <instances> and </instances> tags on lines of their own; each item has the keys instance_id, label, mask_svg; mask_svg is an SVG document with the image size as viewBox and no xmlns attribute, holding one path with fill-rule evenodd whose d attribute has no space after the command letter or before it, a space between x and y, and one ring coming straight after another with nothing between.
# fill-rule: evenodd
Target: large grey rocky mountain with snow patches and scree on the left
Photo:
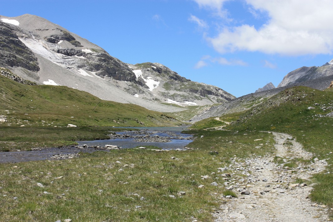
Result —
<instances>
[{"instance_id":1,"label":"large grey rocky mountain with snow patches and scree on the left","mask_svg":"<svg viewBox=\"0 0 333 222\"><path fill-rule=\"evenodd\" d=\"M29 14L0 16L0 66L39 85L67 86L154 111L175 112L235 98L159 63L124 63L63 27Z\"/></svg>"}]
</instances>

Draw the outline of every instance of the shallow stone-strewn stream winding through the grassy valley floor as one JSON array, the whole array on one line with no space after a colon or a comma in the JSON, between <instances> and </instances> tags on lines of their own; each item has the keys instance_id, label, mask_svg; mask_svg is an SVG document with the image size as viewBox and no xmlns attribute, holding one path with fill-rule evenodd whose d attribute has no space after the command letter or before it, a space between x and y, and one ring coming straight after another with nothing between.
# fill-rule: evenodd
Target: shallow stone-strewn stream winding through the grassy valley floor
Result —
<instances>
[{"instance_id":1,"label":"shallow stone-strewn stream winding through the grassy valley floor","mask_svg":"<svg viewBox=\"0 0 333 222\"><path fill-rule=\"evenodd\" d=\"M31 151L16 150L11 152L0 152L0 163L24 162L36 160L61 160L79 157L79 152L91 153L98 150L110 151L114 149L134 148L134 147L154 147L156 149L183 150L188 143L192 142L193 136L180 133L180 129L171 127L145 128L137 127L136 130L124 128L109 128L114 131L107 131L108 139L78 141L78 145L62 147L34 147ZM164 129L158 131L157 129ZM122 130L115 132L115 130ZM183 130L183 129L181 129Z\"/></svg>"}]
</instances>

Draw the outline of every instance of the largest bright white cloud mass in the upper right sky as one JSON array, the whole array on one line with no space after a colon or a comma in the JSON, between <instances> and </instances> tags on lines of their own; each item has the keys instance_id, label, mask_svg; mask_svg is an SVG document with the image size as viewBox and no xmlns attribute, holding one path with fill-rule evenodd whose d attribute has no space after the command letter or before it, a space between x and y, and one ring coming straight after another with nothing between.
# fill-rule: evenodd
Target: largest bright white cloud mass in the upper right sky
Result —
<instances>
[{"instance_id":1,"label":"largest bright white cloud mass in the upper right sky","mask_svg":"<svg viewBox=\"0 0 333 222\"><path fill-rule=\"evenodd\" d=\"M225 10L224 0L194 1L213 12ZM246 0L246 3L257 12L267 13L269 20L259 28L251 24L226 27L217 36L206 38L216 51L293 56L333 53L333 1Z\"/></svg>"}]
</instances>

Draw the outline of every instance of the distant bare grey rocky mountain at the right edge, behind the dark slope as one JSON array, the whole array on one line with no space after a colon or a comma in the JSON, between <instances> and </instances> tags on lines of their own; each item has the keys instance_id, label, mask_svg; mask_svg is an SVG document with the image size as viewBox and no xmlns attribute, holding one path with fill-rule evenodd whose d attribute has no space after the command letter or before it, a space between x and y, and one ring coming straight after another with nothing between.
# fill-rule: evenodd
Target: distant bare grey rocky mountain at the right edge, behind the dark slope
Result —
<instances>
[{"instance_id":1,"label":"distant bare grey rocky mountain at the right edge, behind the dark slope","mask_svg":"<svg viewBox=\"0 0 333 222\"><path fill-rule=\"evenodd\" d=\"M316 80L333 75L333 60L323 66L303 66L288 73L277 87L289 86L305 81ZM332 77L333 80L333 77ZM327 87L326 87L327 88Z\"/></svg>"}]
</instances>

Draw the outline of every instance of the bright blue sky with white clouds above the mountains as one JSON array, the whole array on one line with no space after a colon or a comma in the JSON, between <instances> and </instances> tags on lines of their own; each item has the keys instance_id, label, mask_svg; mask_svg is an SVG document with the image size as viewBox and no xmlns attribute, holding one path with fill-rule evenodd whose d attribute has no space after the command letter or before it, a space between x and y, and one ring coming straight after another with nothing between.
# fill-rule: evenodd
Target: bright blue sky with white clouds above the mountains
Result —
<instances>
[{"instance_id":1,"label":"bright blue sky with white clouds above the mountains","mask_svg":"<svg viewBox=\"0 0 333 222\"><path fill-rule=\"evenodd\" d=\"M158 62L236 97L333 59L331 0L11 0L136 64Z\"/></svg>"}]
</instances>

